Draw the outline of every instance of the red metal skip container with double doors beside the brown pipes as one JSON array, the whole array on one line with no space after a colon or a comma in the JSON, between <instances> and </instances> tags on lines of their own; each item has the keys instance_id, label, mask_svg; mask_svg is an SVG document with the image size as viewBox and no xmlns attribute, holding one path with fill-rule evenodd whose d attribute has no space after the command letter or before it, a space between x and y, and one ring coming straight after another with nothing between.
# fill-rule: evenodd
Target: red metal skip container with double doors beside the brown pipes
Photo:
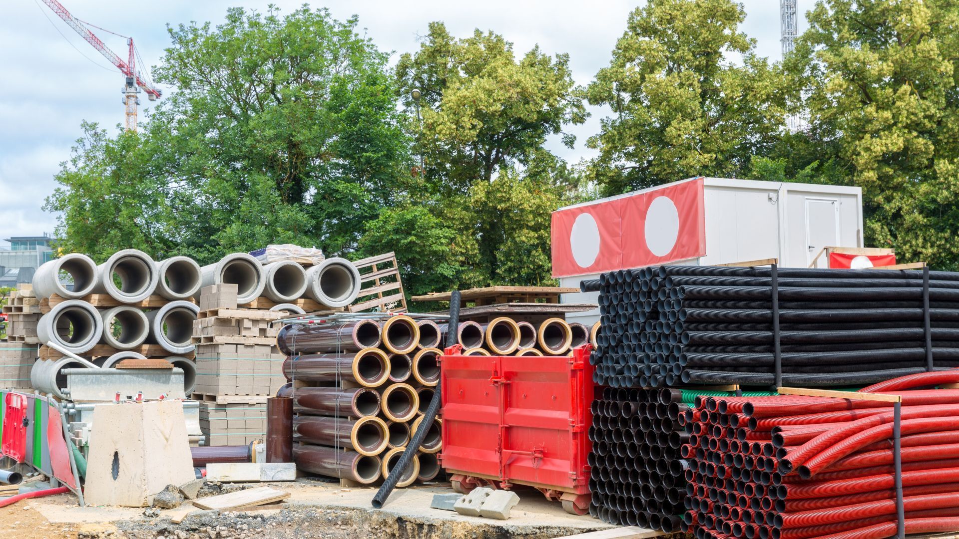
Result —
<instances>
[{"instance_id":1,"label":"red metal skip container with double doors beside the brown pipes","mask_svg":"<svg viewBox=\"0 0 959 539\"><path fill-rule=\"evenodd\" d=\"M440 358L443 451L440 462L460 492L490 485L533 486L585 514L592 449L587 429L595 386L592 346L566 356Z\"/></svg>"}]
</instances>

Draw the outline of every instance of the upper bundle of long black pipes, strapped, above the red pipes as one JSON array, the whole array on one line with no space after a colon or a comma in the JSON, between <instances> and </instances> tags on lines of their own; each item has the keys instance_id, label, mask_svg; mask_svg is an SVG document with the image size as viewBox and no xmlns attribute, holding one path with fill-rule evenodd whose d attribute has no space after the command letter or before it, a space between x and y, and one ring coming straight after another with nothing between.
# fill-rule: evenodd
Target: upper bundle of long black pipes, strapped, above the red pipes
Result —
<instances>
[{"instance_id":1,"label":"upper bundle of long black pipes, strapped, above the red pipes","mask_svg":"<svg viewBox=\"0 0 959 539\"><path fill-rule=\"evenodd\" d=\"M583 281L599 291L596 383L769 387L777 344L784 386L867 385L959 366L959 273L777 269L774 287L772 272L658 266Z\"/></svg>"}]
</instances>

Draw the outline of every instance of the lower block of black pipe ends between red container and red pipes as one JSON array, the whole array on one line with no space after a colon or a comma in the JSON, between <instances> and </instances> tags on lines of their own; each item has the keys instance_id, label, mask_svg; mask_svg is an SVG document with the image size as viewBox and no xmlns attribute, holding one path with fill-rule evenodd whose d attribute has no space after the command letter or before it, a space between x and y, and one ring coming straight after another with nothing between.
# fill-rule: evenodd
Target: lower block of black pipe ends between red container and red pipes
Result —
<instances>
[{"instance_id":1,"label":"lower block of black pipe ends between red container and red pipes","mask_svg":"<svg viewBox=\"0 0 959 539\"><path fill-rule=\"evenodd\" d=\"M690 410L673 389L604 387L589 430L590 514L604 522L678 531L689 442L677 417Z\"/></svg>"}]
</instances>

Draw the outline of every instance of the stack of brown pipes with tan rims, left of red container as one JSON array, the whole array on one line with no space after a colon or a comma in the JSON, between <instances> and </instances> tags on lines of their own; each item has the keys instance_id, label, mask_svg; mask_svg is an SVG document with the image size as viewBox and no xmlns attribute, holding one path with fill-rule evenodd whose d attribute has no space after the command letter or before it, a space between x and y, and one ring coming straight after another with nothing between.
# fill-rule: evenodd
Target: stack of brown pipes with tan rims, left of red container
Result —
<instances>
[{"instance_id":1,"label":"stack of brown pipes with tan rims, left of red container","mask_svg":"<svg viewBox=\"0 0 959 539\"><path fill-rule=\"evenodd\" d=\"M386 478L406 451L439 382L442 333L430 319L384 316L283 328L293 398L293 461L317 475L370 484ZM435 419L397 486L440 473Z\"/></svg>"}]
</instances>

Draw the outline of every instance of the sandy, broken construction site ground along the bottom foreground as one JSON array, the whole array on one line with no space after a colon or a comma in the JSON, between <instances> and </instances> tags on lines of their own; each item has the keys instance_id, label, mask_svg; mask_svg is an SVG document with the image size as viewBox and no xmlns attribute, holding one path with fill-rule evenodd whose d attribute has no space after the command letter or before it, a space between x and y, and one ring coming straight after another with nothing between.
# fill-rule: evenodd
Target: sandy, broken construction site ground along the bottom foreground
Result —
<instances>
[{"instance_id":1,"label":"sandy, broken construction site ground along the bottom foreground","mask_svg":"<svg viewBox=\"0 0 959 539\"><path fill-rule=\"evenodd\" d=\"M263 484L214 487L227 492ZM198 511L179 524L171 522L178 509L163 509L158 516L148 517L144 507L81 507L73 495L23 500L0 508L0 537L547 539L612 527L589 516L568 514L558 502L547 501L533 489L518 490L520 504L513 507L509 520L499 521L431 508L433 494L453 492L448 484L396 489L379 510L370 507L375 488L341 488L337 483L316 480L269 486L291 493L282 509Z\"/></svg>"}]
</instances>

